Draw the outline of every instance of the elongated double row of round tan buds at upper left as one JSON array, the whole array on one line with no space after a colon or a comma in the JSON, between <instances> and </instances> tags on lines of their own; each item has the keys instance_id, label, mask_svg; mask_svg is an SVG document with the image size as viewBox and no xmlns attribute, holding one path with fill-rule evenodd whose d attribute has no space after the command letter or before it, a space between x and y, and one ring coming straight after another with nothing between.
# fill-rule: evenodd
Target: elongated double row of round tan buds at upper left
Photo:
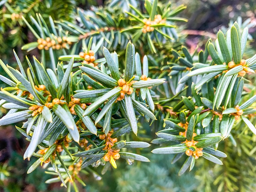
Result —
<instances>
[{"instance_id":1,"label":"elongated double row of round tan buds at upper left","mask_svg":"<svg viewBox=\"0 0 256 192\"><path fill-rule=\"evenodd\" d=\"M54 36L53 39L51 39L50 37L46 37L45 39L40 38L37 39L37 43L37 48L40 50L49 50L50 47L52 47L52 49L59 50L61 48L68 48L67 45L72 44L70 41L67 41L66 36L63 36L62 38Z\"/></svg>"}]
</instances>

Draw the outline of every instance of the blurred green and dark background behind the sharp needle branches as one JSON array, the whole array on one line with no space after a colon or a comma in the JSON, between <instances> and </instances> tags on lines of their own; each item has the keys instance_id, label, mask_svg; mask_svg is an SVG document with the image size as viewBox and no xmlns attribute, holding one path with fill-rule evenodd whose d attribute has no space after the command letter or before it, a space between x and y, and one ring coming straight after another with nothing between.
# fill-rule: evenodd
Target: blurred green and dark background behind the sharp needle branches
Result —
<instances>
[{"instance_id":1,"label":"blurred green and dark background behind the sharp needle branches","mask_svg":"<svg viewBox=\"0 0 256 192\"><path fill-rule=\"evenodd\" d=\"M30 3L27 2L30 1L0 1L0 58L12 67L17 65L12 49L15 49L20 58L24 58L28 53L22 51L21 46L32 42L33 35L24 23L8 17L10 10L22 12L25 17L40 12L42 15L51 15L53 20L75 21L73 14L76 12L77 6L82 9L89 9L91 5L99 6L106 3L103 0L34 0L33 6L30 7ZM252 40L246 54L255 54L256 44L253 40L256 39L256 28L254 27L256 24L255 0L172 0L171 2L176 5L185 4L188 6L180 15L189 20L181 27L182 33L187 36L185 44L188 47L195 49L197 45L203 46L205 40L214 37L219 29L225 31L228 25L237 19L244 21L250 18L249 33ZM29 54L39 55L39 52L35 49ZM2 69L0 69L0 74L5 75ZM1 87L5 87L2 82L0 84ZM3 108L0 108L0 116L3 116L5 112ZM150 142L149 137L152 137L150 128L148 125L143 127L145 137L148 135L148 142ZM14 126L0 126L0 192L57 192L65 190L60 188L60 184L45 184L44 181L51 178L51 175L44 174L42 168L36 169L31 174L26 173L28 167L34 162L33 159L30 162L23 160L23 153L27 145L28 142ZM225 186L219 186L218 178L220 172L227 167L220 167L211 162L202 163L199 159L195 165L196 169L178 176L181 163L171 164L172 155L154 155L150 153L150 150L152 148L146 149L142 153L151 160L151 163L139 162L129 165L118 161L118 169L108 171L104 177L101 177L95 168L93 175L85 174L83 180L87 186L80 188L80 190L93 192L228 191ZM255 166L254 157L246 158L252 158L250 162L254 162ZM229 186L230 191L256 190L256 180L253 174L256 168L253 169L253 164L250 164L251 167L248 165L248 169L239 166L239 164L246 163L243 162L246 161L246 158L241 160L239 155L234 155L227 160L229 164L234 165L231 168L228 167L234 169L228 170L229 172L246 174L246 177L239 177L239 174L235 178L227 176L227 180L230 182L227 181L227 186L231 186Z\"/></svg>"}]
</instances>

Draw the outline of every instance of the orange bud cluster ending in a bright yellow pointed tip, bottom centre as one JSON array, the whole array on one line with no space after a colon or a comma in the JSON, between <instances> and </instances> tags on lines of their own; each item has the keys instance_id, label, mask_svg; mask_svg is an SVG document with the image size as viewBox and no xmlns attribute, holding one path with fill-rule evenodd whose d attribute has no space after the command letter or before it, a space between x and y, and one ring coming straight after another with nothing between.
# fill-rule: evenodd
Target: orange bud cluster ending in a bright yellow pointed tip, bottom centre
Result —
<instances>
[{"instance_id":1,"label":"orange bud cluster ending in a bright yellow pointed tip, bottom centre","mask_svg":"<svg viewBox=\"0 0 256 192\"><path fill-rule=\"evenodd\" d=\"M111 138L110 136L112 135L112 132L109 132L106 135L100 135L99 138L101 140L106 140L106 146L103 148L103 150L108 150L108 153L103 157L104 161L109 161L113 167L116 168L116 159L119 159L120 158L120 155L119 155L119 151L120 149L118 150L113 150L112 147L113 145L117 142L117 138Z\"/></svg>"}]
</instances>

